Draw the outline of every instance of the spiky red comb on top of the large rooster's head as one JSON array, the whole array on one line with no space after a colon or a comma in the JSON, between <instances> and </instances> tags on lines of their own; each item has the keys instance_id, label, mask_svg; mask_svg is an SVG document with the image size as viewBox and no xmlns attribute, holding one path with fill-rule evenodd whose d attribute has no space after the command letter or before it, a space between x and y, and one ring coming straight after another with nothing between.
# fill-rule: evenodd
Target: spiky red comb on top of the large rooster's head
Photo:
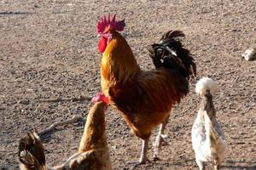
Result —
<instances>
[{"instance_id":1,"label":"spiky red comb on top of the large rooster's head","mask_svg":"<svg viewBox=\"0 0 256 170\"><path fill-rule=\"evenodd\" d=\"M110 14L108 14L108 19L103 15L102 19L97 21L96 31L102 34L108 26L115 31L123 31L125 28L125 20L117 21L116 14L113 14L112 20L110 19Z\"/></svg>"}]
</instances>

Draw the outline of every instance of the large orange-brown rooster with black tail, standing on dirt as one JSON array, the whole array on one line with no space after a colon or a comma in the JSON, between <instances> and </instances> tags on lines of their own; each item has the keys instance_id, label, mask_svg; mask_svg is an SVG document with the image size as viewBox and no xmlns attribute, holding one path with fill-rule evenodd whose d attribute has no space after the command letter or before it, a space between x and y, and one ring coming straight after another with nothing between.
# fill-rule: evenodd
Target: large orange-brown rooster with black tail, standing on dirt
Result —
<instances>
[{"instance_id":1,"label":"large orange-brown rooster with black tail, standing on dirt","mask_svg":"<svg viewBox=\"0 0 256 170\"><path fill-rule=\"evenodd\" d=\"M125 38L119 34L125 20L105 16L97 22L101 36L98 49L102 53L102 93L110 104L121 112L131 131L143 140L143 150L138 164L148 161L148 139L160 125L155 140L154 159L158 159L163 133L172 105L189 93L189 77L195 76L195 62L188 49L183 48L178 37L182 31L168 31L160 42L149 48L155 69L143 71Z\"/></svg>"}]
</instances>

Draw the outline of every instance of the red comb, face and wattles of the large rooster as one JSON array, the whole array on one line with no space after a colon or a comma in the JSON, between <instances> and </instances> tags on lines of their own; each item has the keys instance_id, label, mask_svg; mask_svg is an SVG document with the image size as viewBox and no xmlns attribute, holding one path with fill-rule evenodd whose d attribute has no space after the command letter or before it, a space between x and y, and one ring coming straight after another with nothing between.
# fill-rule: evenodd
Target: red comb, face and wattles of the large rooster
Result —
<instances>
[{"instance_id":1,"label":"red comb, face and wattles of the large rooster","mask_svg":"<svg viewBox=\"0 0 256 170\"><path fill-rule=\"evenodd\" d=\"M102 16L101 20L97 21L96 31L101 36L100 42L98 43L98 49L101 53L105 51L108 46L108 42L112 39L113 31L123 31L125 28L125 20L116 20L116 14L113 14L113 18L108 18L105 15Z\"/></svg>"}]
</instances>

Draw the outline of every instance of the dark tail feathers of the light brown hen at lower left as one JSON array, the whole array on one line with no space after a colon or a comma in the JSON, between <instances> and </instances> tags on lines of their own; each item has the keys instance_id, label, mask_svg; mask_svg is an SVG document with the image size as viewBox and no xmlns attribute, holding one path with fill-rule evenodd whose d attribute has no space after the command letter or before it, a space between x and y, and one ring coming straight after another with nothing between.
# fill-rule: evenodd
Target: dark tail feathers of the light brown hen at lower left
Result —
<instances>
[{"instance_id":1,"label":"dark tail feathers of the light brown hen at lower left","mask_svg":"<svg viewBox=\"0 0 256 170\"><path fill-rule=\"evenodd\" d=\"M45 170L44 146L36 131L20 139L19 161L22 170Z\"/></svg>"}]
</instances>

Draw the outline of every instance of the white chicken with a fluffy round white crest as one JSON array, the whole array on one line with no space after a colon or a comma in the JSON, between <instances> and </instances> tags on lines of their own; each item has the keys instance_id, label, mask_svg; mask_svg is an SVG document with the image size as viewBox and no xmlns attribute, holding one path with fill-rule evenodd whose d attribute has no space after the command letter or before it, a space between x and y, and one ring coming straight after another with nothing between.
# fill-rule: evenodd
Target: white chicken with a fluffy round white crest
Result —
<instances>
[{"instance_id":1,"label":"white chicken with a fluffy round white crest","mask_svg":"<svg viewBox=\"0 0 256 170\"><path fill-rule=\"evenodd\" d=\"M200 170L204 162L209 161L217 170L224 161L225 142L212 102L212 94L218 92L218 83L203 77L196 83L195 91L201 95L201 105L192 127L192 145L195 150L195 161Z\"/></svg>"}]
</instances>

